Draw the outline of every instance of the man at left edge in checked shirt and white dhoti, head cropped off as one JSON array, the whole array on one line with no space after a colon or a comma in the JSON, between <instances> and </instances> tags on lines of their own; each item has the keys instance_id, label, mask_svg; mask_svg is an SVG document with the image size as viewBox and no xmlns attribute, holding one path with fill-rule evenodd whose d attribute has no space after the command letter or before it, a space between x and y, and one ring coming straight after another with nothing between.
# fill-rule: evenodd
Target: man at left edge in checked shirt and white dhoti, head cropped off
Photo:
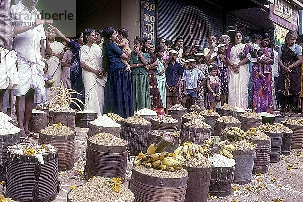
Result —
<instances>
[{"instance_id":1,"label":"man at left edge in checked shirt and white dhoti, head cropped off","mask_svg":"<svg viewBox=\"0 0 303 202\"><path fill-rule=\"evenodd\" d=\"M0 0L0 109L3 107L5 90L18 84L16 52L13 46L13 15L11 0Z\"/></svg>"}]
</instances>

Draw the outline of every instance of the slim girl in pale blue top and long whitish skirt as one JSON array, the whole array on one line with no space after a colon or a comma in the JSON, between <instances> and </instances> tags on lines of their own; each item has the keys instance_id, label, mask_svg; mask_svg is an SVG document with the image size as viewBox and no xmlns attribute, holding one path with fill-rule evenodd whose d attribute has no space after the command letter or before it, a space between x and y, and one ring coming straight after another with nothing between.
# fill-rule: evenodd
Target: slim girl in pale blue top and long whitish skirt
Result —
<instances>
[{"instance_id":1,"label":"slim girl in pale blue top and long whitish skirt","mask_svg":"<svg viewBox=\"0 0 303 202\"><path fill-rule=\"evenodd\" d=\"M157 61L158 61L158 67L157 70L155 71L156 78L157 78L157 84L158 84L158 89L160 92L160 97L163 103L163 107L166 108L166 86L165 86L165 70L168 66L168 63L165 63L162 60L162 57L164 55L164 48L160 45L156 46L155 48L155 53L157 54Z\"/></svg>"}]
</instances>

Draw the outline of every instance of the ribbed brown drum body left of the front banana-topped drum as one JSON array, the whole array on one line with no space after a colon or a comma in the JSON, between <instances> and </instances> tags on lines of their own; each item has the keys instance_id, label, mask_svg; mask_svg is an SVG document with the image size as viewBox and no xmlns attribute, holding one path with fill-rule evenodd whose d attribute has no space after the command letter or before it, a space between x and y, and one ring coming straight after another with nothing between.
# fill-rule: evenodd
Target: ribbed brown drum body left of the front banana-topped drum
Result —
<instances>
[{"instance_id":1,"label":"ribbed brown drum body left of the front banana-topped drum","mask_svg":"<svg viewBox=\"0 0 303 202\"><path fill-rule=\"evenodd\" d=\"M107 178L121 177L125 181L128 156L128 144L124 146L106 146L87 141L85 179L93 176Z\"/></svg>"}]
</instances>

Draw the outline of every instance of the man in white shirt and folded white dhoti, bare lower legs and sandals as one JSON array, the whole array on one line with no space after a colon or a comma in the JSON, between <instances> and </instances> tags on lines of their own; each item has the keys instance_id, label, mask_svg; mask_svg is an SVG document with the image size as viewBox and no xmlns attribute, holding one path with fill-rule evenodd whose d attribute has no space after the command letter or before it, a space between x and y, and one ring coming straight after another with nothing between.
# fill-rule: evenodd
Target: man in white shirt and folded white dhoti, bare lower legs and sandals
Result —
<instances>
[{"instance_id":1,"label":"man in white shirt and folded white dhoti, bare lower legs and sandals","mask_svg":"<svg viewBox=\"0 0 303 202\"><path fill-rule=\"evenodd\" d=\"M22 0L13 5L14 38L13 47L17 52L19 85L13 89L16 96L16 115L21 129L21 141L27 137L37 136L29 131L28 124L32 113L34 92L44 94L43 68L44 57L44 27L46 20L41 20L39 11L35 8L37 0Z\"/></svg>"}]
</instances>

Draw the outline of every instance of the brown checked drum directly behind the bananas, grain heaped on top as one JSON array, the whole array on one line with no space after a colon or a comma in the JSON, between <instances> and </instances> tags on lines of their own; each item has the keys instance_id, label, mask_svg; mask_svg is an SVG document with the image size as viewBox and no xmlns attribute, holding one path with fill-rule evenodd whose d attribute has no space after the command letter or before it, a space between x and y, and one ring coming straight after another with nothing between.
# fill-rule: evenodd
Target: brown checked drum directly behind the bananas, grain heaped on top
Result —
<instances>
[{"instance_id":1,"label":"brown checked drum directly behind the bananas, grain heaped on top","mask_svg":"<svg viewBox=\"0 0 303 202\"><path fill-rule=\"evenodd\" d=\"M194 128L187 125L183 126L183 132L181 133L181 144L189 141L199 145L204 144L204 140L211 137L211 128Z\"/></svg>"}]
</instances>

